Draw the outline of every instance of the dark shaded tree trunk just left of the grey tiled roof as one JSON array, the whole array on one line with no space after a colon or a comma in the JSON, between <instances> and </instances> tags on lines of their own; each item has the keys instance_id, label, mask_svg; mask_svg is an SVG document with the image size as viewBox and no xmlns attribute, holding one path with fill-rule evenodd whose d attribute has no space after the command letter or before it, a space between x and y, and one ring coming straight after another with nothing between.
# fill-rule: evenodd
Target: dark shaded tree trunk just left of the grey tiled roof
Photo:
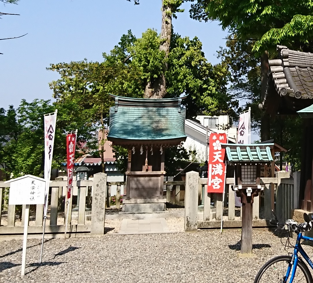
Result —
<instances>
[{"instance_id":1,"label":"dark shaded tree trunk just left of the grey tiled roof","mask_svg":"<svg viewBox=\"0 0 313 283\"><path fill-rule=\"evenodd\" d=\"M269 71L269 54L267 51L261 55L261 100L264 99L266 92L266 80ZM266 112L261 118L261 141L270 139L270 116Z\"/></svg>"}]
</instances>

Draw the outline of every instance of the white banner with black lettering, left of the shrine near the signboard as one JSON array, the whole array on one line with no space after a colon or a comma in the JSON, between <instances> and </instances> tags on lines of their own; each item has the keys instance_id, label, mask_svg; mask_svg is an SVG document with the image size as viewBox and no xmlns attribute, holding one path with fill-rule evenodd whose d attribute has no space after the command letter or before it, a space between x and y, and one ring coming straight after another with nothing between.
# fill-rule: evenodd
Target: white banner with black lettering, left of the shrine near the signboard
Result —
<instances>
[{"instance_id":1,"label":"white banner with black lettering, left of the shrine near the signboard","mask_svg":"<svg viewBox=\"0 0 313 283\"><path fill-rule=\"evenodd\" d=\"M51 165L53 155L53 145L55 136L55 124L57 112L44 115L44 179L46 180L45 199L44 199L44 217L47 216L48 194L51 176Z\"/></svg>"}]
</instances>

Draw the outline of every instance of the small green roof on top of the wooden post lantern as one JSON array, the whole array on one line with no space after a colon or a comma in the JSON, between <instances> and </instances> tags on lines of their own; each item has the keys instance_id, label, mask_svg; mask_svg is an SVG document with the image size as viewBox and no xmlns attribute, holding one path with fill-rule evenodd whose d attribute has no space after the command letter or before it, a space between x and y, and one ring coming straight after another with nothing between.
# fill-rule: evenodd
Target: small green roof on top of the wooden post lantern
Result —
<instances>
[{"instance_id":1,"label":"small green roof on top of the wooden post lantern","mask_svg":"<svg viewBox=\"0 0 313 283\"><path fill-rule=\"evenodd\" d=\"M223 144L229 162L271 162L274 161L271 148L274 144Z\"/></svg>"}]
</instances>

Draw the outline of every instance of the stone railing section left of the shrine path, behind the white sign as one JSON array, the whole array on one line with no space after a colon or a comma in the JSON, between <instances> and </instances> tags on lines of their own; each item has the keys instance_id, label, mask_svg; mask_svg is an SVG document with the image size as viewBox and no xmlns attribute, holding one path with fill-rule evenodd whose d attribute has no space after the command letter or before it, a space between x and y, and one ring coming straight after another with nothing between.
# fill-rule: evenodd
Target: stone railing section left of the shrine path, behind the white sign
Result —
<instances>
[{"instance_id":1,"label":"stone railing section left of the shrine path, behind the white sign","mask_svg":"<svg viewBox=\"0 0 313 283\"><path fill-rule=\"evenodd\" d=\"M70 235L81 233L104 234L106 177L107 175L104 173L97 173L92 181L73 181L73 186L78 187L79 193L76 207L72 204L73 198L69 200L67 233ZM68 200L65 193L65 205L62 205L62 190L63 188L66 189L66 186L67 181L50 181L49 207L45 228L47 238L55 238L57 234L65 232L66 203ZM21 217L19 217L21 221L19 221L16 217L18 206L8 205L9 187L10 183L0 182L0 203L3 204L0 209L0 239L9 236L11 238L21 238L23 236L25 205L22 206L19 213L21 214ZM43 210L43 205L31 206L28 228L30 237L41 237L40 233L43 232Z\"/></svg>"}]
</instances>

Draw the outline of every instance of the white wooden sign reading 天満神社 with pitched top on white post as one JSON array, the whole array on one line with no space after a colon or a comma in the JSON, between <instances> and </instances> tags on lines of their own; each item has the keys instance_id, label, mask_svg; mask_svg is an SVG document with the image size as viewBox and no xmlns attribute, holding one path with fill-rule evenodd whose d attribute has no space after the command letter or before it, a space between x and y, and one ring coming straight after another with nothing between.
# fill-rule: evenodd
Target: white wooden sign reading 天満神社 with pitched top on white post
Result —
<instances>
[{"instance_id":1,"label":"white wooden sign reading \u5929\u6e80\u795e\u793e with pitched top on white post","mask_svg":"<svg viewBox=\"0 0 313 283\"><path fill-rule=\"evenodd\" d=\"M9 205L12 204L26 205L24 218L22 271L21 271L21 276L23 277L25 275L25 265L26 265L29 205L44 204L46 181L36 176L25 175L16 179L6 181L5 183L11 183L9 191Z\"/></svg>"}]
</instances>

